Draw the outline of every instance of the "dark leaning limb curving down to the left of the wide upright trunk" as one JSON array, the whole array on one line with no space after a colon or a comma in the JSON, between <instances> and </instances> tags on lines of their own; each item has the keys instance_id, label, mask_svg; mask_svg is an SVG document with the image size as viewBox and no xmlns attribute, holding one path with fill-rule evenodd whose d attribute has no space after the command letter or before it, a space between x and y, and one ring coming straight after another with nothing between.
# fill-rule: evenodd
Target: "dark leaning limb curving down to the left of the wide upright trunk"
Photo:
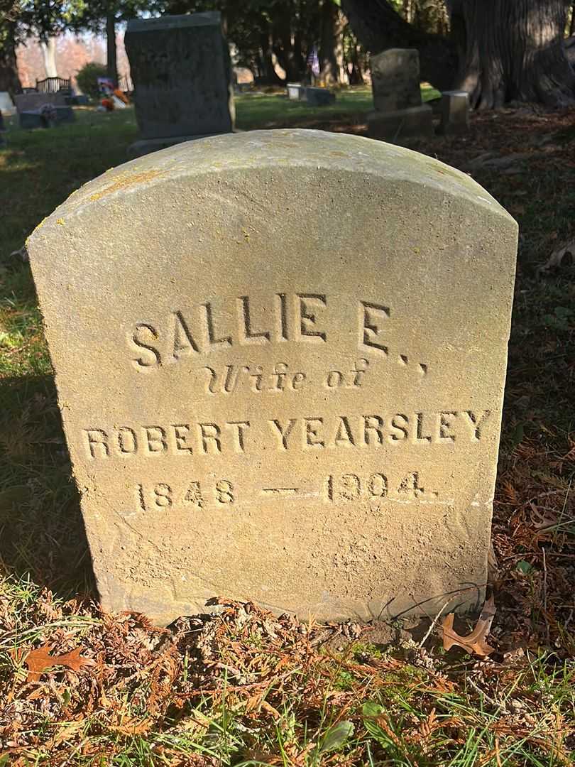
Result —
<instances>
[{"instance_id":1,"label":"dark leaning limb curving down to the left of the wide upright trunk","mask_svg":"<svg viewBox=\"0 0 575 767\"><path fill-rule=\"evenodd\" d=\"M440 91L452 87L458 64L452 40L429 35L408 24L388 0L341 0L341 9L363 48L370 53L386 48L417 48L422 80Z\"/></svg>"}]
</instances>

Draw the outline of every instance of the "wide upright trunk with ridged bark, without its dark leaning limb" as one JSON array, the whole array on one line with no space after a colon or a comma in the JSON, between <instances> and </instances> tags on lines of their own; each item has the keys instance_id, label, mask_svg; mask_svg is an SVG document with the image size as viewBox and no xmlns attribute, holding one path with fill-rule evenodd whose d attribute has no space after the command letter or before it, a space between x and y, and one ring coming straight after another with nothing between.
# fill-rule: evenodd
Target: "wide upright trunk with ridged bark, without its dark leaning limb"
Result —
<instances>
[{"instance_id":1,"label":"wide upright trunk with ridged bark, without its dark leaning limb","mask_svg":"<svg viewBox=\"0 0 575 767\"><path fill-rule=\"evenodd\" d=\"M563 34L566 0L463 0L465 66L458 87L471 106L501 107L535 101L548 107L572 104L575 74Z\"/></svg>"}]
</instances>

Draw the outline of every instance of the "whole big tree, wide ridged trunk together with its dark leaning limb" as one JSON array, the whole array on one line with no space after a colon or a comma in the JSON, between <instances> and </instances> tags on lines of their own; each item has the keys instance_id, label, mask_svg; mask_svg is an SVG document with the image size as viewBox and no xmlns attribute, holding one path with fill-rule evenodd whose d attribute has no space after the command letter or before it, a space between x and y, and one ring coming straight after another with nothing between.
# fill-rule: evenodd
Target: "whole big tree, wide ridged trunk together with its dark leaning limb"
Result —
<instances>
[{"instance_id":1,"label":"whole big tree, wide ridged trunk together with its dark leaning limb","mask_svg":"<svg viewBox=\"0 0 575 767\"><path fill-rule=\"evenodd\" d=\"M468 91L472 107L509 100L550 107L575 99L563 34L570 0L446 0L451 39L408 24L388 0L341 0L363 46L417 48L422 80ZM455 77L454 77L455 74Z\"/></svg>"}]
</instances>

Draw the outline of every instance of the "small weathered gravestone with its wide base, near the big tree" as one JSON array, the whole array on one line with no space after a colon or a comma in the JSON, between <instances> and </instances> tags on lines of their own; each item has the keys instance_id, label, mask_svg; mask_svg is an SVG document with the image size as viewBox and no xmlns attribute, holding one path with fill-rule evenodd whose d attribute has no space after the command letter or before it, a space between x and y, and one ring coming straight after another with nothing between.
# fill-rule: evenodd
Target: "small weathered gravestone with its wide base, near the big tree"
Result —
<instances>
[{"instance_id":1,"label":"small weathered gravestone with its wide base, near the big tree","mask_svg":"<svg viewBox=\"0 0 575 767\"><path fill-rule=\"evenodd\" d=\"M385 140L432 136L432 109L421 100L418 51L390 48L372 56L370 65L375 107L367 117L370 136Z\"/></svg>"}]
</instances>

